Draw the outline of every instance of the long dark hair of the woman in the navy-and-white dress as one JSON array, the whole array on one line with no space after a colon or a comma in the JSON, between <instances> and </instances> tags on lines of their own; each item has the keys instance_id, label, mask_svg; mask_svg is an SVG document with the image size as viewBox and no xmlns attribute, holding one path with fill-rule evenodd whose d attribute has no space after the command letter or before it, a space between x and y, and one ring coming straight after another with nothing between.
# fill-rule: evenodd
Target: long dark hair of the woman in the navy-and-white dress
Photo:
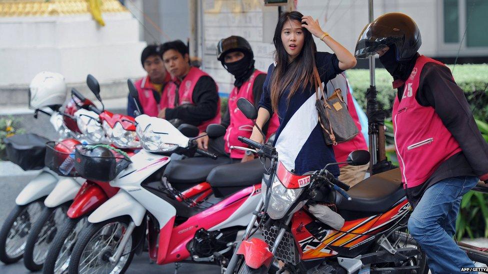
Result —
<instances>
[{"instance_id":1,"label":"long dark hair of the woman in the navy-and-white dress","mask_svg":"<svg viewBox=\"0 0 488 274\"><path fill-rule=\"evenodd\" d=\"M286 87L290 88L289 98L299 88L304 88L308 83L314 85L313 70L315 69L315 52L317 47L313 41L312 34L306 28L302 28L304 34L303 47L298 55L288 61L288 53L281 41L283 25L289 20L296 20L301 23L301 14L298 11L285 12L279 16L276 28L274 29L273 43L276 51L274 61L276 67L271 77L271 105L273 111L277 111L278 100Z\"/></svg>"}]
</instances>

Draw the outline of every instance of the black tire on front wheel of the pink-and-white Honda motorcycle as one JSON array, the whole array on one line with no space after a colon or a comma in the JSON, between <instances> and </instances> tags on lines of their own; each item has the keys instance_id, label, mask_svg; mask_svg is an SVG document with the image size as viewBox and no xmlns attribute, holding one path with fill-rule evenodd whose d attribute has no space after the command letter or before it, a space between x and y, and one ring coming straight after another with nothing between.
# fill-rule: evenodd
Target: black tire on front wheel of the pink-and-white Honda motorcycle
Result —
<instances>
[{"instance_id":1,"label":"black tire on front wheel of the pink-and-white Honda motorcycle","mask_svg":"<svg viewBox=\"0 0 488 274\"><path fill-rule=\"evenodd\" d=\"M118 237L118 236L115 237L113 235L113 233L111 236L106 237L103 234L99 234L99 232L103 233L106 231L110 231L110 229L111 229L110 227L113 226L113 224L121 224L123 230L125 230L128 227L129 222L130 222L130 219L128 219L126 217L117 217L117 218L112 218L112 219L106 220L106 221L101 222L101 223L92 223L92 224L89 224L88 226L86 226L83 229L83 231L80 233L78 241L76 241L76 244L74 245L73 251L71 253L71 258L69 259L68 274L96 272L96 271L91 270L91 269L85 269L87 266L84 266L84 265L80 266L81 259L83 259L83 261L81 261L81 264L84 261L87 261L84 258L85 250L87 248L88 249L91 248L92 250L97 249L98 247L96 247L96 244L97 244L97 242L99 242L98 239L100 239L100 238L101 239L107 238L110 240L120 241L121 237ZM127 241L127 244L130 243L131 245L128 248L126 247L124 249L124 251L122 253L122 257L120 258L120 260L118 260L117 265L115 265L115 266L111 265L111 266L113 266L113 268L111 271L109 271L110 273L113 273L113 274L114 273L118 273L118 274L125 273L125 271L127 270L127 268L130 265L130 262L132 261L132 258L134 257L135 248L137 245L135 238L136 237L133 237L133 235L130 236L130 239L129 239L129 241ZM105 240L102 240L101 242L105 243ZM90 246L90 244L91 244L91 246ZM93 246L94 246L94 248L93 248ZM112 248L111 250L108 247L101 247L101 249L99 249L99 250L97 249L97 250L94 250L93 252L91 252L90 255L94 255L93 258L96 258L96 260L97 260L94 264L96 264L98 266L100 266L101 264L107 264L107 263L110 264L108 259L113 255L117 246L118 246L118 242L115 243L115 247ZM126 257L123 258L124 256L126 256ZM122 260L124 260L125 262L123 262ZM90 260L89 262L91 262L91 261L92 260ZM120 263L123 263L123 265L119 266ZM79 269L80 267L81 267L81 269ZM118 267L119 270L114 271L115 267Z\"/></svg>"}]
</instances>

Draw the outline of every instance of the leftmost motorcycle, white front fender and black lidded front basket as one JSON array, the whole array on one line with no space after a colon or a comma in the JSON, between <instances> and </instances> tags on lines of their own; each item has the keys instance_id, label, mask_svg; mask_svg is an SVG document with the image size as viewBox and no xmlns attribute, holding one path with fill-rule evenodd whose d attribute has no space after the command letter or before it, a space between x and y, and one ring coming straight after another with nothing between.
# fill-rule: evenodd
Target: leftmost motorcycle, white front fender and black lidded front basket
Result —
<instances>
[{"instance_id":1,"label":"leftmost motorcycle, white front fender and black lidded front basket","mask_svg":"<svg viewBox=\"0 0 488 274\"><path fill-rule=\"evenodd\" d=\"M73 92L77 93L74 89ZM79 108L88 109L93 104L89 100L75 101L75 99L73 97L68 100L63 109L55 105L45 109L36 109L34 118L37 118L39 112L49 115L49 121L58 132L59 140L70 137L78 138L80 131L72 115ZM49 141L48 139L35 134L24 134L9 137L5 141L7 155L13 163L24 170L41 169L41 172L17 195L16 206L0 230L0 261L4 264L11 264L24 256L27 237L43 211L43 201L56 189L56 186L64 185L60 181L69 181L65 184L72 186L78 185L78 183L72 182L71 179L60 178L56 172L45 166L45 143ZM59 193L58 190L54 192ZM54 206L55 204L51 204L51 202L52 200L48 199L46 205Z\"/></svg>"}]
</instances>

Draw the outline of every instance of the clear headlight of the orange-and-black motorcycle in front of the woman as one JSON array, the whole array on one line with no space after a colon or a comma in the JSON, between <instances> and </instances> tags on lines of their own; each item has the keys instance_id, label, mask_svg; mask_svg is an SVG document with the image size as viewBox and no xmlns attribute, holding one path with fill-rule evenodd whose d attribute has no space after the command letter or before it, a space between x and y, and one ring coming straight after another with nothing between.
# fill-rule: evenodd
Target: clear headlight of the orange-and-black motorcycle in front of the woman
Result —
<instances>
[{"instance_id":1,"label":"clear headlight of the orange-and-black motorcycle in front of the woman","mask_svg":"<svg viewBox=\"0 0 488 274\"><path fill-rule=\"evenodd\" d=\"M296 199L298 199L302 192L303 188L285 188L279 181L278 177L274 175L271 185L271 196L269 197L269 205L267 207L267 214L269 215L269 218L273 220L283 218L288 209L296 201ZM297 207L295 207L295 210L296 208Z\"/></svg>"}]
</instances>

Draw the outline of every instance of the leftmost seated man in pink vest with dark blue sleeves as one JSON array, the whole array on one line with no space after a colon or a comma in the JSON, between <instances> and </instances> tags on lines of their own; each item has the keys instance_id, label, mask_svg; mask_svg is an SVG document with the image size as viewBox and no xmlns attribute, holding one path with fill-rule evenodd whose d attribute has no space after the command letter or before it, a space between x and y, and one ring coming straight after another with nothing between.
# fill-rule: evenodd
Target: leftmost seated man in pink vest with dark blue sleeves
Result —
<instances>
[{"instance_id":1,"label":"leftmost seated man in pink vest with dark blue sleeves","mask_svg":"<svg viewBox=\"0 0 488 274\"><path fill-rule=\"evenodd\" d=\"M140 62L147 75L135 81L134 85L139 93L139 109L149 116L157 116L159 113L159 101L164 85L169 82L170 76L162 62L160 45L148 45L140 54ZM128 96L127 115L134 116L135 102Z\"/></svg>"}]
</instances>

